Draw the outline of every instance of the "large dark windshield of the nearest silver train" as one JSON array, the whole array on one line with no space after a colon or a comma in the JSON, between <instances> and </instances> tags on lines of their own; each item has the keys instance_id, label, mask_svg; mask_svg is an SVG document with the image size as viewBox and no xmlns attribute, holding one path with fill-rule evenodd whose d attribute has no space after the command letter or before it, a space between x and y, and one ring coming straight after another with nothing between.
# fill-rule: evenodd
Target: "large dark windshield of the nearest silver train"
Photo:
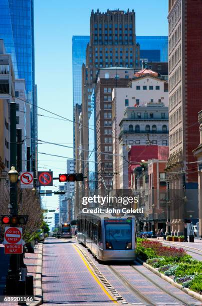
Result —
<instances>
[{"instance_id":1,"label":"large dark windshield of the nearest silver train","mask_svg":"<svg viewBox=\"0 0 202 306\"><path fill-rule=\"evenodd\" d=\"M132 242L132 222L131 220L106 220L105 240L111 249L127 249L127 245Z\"/></svg>"}]
</instances>

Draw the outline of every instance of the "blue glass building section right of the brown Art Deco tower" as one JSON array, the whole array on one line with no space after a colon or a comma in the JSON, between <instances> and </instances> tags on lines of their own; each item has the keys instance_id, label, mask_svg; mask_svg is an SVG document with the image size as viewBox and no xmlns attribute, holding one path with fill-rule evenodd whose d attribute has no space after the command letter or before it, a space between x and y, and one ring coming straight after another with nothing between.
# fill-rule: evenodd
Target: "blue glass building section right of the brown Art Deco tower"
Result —
<instances>
[{"instance_id":1,"label":"blue glass building section right of the brown Art Deco tower","mask_svg":"<svg viewBox=\"0 0 202 306\"><path fill-rule=\"evenodd\" d=\"M140 60L168 61L168 36L136 36Z\"/></svg>"}]
</instances>

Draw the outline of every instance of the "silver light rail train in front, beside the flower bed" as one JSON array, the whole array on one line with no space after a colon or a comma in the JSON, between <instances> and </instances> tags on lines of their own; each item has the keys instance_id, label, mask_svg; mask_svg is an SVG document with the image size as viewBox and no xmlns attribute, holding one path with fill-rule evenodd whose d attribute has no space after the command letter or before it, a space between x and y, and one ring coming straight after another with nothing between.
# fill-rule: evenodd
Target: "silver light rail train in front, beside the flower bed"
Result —
<instances>
[{"instance_id":1,"label":"silver light rail train in front, beside the flower bed","mask_svg":"<svg viewBox=\"0 0 202 306\"><path fill-rule=\"evenodd\" d=\"M135 216L80 213L78 241L103 261L132 261L136 257Z\"/></svg>"}]
</instances>

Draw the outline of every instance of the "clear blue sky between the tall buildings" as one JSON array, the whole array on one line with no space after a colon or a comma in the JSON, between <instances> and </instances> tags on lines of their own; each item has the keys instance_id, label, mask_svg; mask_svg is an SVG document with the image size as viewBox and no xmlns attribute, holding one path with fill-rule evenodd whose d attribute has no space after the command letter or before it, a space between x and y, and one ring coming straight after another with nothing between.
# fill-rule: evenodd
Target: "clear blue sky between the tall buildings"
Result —
<instances>
[{"instance_id":1,"label":"clear blue sky between the tall buildings","mask_svg":"<svg viewBox=\"0 0 202 306\"><path fill-rule=\"evenodd\" d=\"M102 0L97 6L94 0L35 0L38 105L72 119L72 36L89 35L92 9L134 9L136 35L167 35L167 2L168 0ZM38 113L53 116L40 109ZM72 123L38 116L38 138L73 146ZM72 149L51 144L39 144L39 152L73 156ZM66 172L66 159L39 154L39 167L51 168L54 176L57 176L58 173ZM54 183L58 185L59 181ZM44 198L47 206L58 207L57 195Z\"/></svg>"}]
</instances>

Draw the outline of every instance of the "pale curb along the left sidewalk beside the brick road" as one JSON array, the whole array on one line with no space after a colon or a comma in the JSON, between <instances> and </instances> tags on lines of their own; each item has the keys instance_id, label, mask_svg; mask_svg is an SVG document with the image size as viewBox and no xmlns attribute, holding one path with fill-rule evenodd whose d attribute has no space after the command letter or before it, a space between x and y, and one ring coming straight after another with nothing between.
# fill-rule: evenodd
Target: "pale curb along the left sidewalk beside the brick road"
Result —
<instances>
[{"instance_id":1,"label":"pale curb along the left sidewalk beside the brick road","mask_svg":"<svg viewBox=\"0 0 202 306\"><path fill-rule=\"evenodd\" d=\"M38 247L38 259L37 259L37 269L36 269L36 280L35 280L35 301L27 303L29 306L37 306L43 303L43 292L42 292L42 257L43 257L43 243L39 243Z\"/></svg>"}]
</instances>

